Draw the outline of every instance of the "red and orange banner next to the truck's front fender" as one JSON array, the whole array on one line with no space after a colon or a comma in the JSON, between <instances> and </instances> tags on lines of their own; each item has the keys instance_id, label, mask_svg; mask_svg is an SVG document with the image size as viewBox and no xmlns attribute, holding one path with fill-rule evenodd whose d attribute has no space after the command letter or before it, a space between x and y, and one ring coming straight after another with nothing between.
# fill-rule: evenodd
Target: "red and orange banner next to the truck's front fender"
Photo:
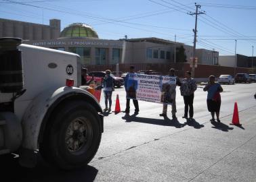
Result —
<instances>
[{"instance_id":1,"label":"red and orange banner next to the truck's front fender","mask_svg":"<svg viewBox=\"0 0 256 182\"><path fill-rule=\"evenodd\" d=\"M87 82L90 81L89 87L92 89L91 94L93 94L98 102L100 102L100 96L102 94L102 78L87 76L86 80Z\"/></svg>"}]
</instances>

